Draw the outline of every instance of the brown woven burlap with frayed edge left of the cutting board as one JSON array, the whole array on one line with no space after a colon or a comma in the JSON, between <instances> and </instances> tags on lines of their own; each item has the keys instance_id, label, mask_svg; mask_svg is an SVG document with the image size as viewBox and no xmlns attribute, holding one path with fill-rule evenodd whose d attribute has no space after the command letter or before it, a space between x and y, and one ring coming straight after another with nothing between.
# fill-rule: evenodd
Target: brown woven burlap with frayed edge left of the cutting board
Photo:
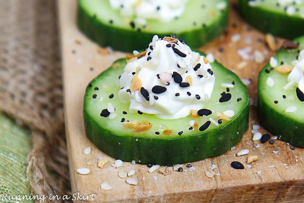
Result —
<instances>
[{"instance_id":1,"label":"brown woven burlap with frayed edge left of the cutting board","mask_svg":"<svg viewBox=\"0 0 304 203\"><path fill-rule=\"evenodd\" d=\"M27 177L47 196L71 195L56 20L54 0L0 0L0 111L31 129Z\"/></svg>"}]
</instances>

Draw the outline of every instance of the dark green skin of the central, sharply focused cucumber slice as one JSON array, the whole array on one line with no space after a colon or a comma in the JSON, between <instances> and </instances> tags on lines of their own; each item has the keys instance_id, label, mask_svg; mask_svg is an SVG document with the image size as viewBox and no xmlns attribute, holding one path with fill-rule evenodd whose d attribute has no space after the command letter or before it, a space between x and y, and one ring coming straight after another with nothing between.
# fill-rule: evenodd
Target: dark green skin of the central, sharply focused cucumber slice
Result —
<instances>
[{"instance_id":1,"label":"dark green skin of the central, sharply focused cucumber slice","mask_svg":"<svg viewBox=\"0 0 304 203\"><path fill-rule=\"evenodd\" d=\"M113 64L125 59L118 59ZM218 65L220 65L218 63ZM107 74L111 68L103 74ZM234 74L231 72L231 74ZM236 82L241 82L239 81ZM101 151L115 159L135 160L141 164L171 166L219 156L236 145L249 127L249 98L246 105L229 124L214 130L201 132L175 139L156 139L146 137L121 136L100 128L83 108L85 134ZM238 132L231 135L230 132ZM143 153L144 152L144 153Z\"/></svg>"}]
</instances>

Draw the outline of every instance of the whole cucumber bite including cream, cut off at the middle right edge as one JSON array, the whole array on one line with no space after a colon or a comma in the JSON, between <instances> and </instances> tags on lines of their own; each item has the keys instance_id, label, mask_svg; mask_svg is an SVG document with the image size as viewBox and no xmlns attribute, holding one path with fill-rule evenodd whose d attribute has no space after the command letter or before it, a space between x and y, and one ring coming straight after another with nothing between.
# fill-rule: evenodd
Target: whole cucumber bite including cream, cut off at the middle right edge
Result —
<instances>
[{"instance_id":1,"label":"whole cucumber bite including cream, cut off at the middle right edge","mask_svg":"<svg viewBox=\"0 0 304 203\"><path fill-rule=\"evenodd\" d=\"M257 113L273 135L304 147L304 36L284 42L258 76ZM302 50L302 51L301 51Z\"/></svg>"}]
</instances>

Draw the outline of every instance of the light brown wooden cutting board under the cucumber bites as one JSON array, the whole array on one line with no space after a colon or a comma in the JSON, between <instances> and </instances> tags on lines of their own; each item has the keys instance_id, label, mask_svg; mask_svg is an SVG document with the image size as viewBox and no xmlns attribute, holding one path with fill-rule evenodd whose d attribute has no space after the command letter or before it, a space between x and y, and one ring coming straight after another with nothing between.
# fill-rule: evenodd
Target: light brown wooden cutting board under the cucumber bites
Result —
<instances>
[{"instance_id":1,"label":"light brown wooden cutting board under the cucumber bites","mask_svg":"<svg viewBox=\"0 0 304 203\"><path fill-rule=\"evenodd\" d=\"M235 1L231 2L232 5L235 4ZM173 171L173 167L169 167L168 175L164 176L158 170L149 173L146 165L133 165L128 162L124 162L119 169L113 168L111 165L115 159L98 150L85 137L82 105L88 82L108 68L115 59L124 57L125 53L109 53L107 49L98 47L80 33L75 25L76 10L76 1L58 1L64 113L75 202L80 202L81 198L88 198L85 200L88 202L300 202L304 199L304 150L296 148L292 151L290 145L280 140L275 140L273 145L268 142L253 142L253 124L259 125L254 105L250 107L249 130L235 146L236 149L219 157L193 162L193 171L189 171L185 166L183 172ZM249 82L248 92L254 103L258 72L275 52L265 45L265 35L244 23L234 6L231 6L229 18L229 28L226 32L201 50L212 53L216 60L236 72L245 82ZM237 34L240 34L240 40L236 42ZM277 40L279 47L283 40ZM237 53L240 50L249 50L247 56L250 59L243 59ZM258 63L252 59L255 51L263 54L263 62ZM242 67L242 63L247 65ZM262 127L259 131L262 134L267 132ZM91 147L92 153L85 155L83 150L88 146ZM250 153L237 157L236 153L245 148L249 149ZM250 155L257 155L259 160L251 163L251 168L248 168L246 161ZM102 169L97 166L100 156L111 160ZM245 169L233 169L230 166L232 161L240 161L245 165ZM78 168L89 168L91 172L88 175L80 175L76 172ZM130 169L136 171L132 177L137 180L137 185L129 185L126 179L117 175L118 170ZM217 175L209 178L206 171L213 171ZM100 185L104 181L109 183L111 190L101 189Z\"/></svg>"}]
</instances>

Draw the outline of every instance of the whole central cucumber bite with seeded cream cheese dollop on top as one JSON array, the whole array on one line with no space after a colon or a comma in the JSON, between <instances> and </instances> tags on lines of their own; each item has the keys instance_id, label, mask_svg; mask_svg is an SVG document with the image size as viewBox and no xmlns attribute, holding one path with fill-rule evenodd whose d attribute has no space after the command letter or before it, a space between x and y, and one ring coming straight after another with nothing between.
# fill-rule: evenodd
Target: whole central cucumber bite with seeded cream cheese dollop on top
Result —
<instances>
[{"instance_id":1,"label":"whole central cucumber bite with seeded cream cheese dollop on top","mask_svg":"<svg viewBox=\"0 0 304 203\"><path fill-rule=\"evenodd\" d=\"M249 96L236 74L155 35L86 88L86 136L125 161L169 166L219 156L248 129ZM208 58L208 57L207 57Z\"/></svg>"}]
</instances>

